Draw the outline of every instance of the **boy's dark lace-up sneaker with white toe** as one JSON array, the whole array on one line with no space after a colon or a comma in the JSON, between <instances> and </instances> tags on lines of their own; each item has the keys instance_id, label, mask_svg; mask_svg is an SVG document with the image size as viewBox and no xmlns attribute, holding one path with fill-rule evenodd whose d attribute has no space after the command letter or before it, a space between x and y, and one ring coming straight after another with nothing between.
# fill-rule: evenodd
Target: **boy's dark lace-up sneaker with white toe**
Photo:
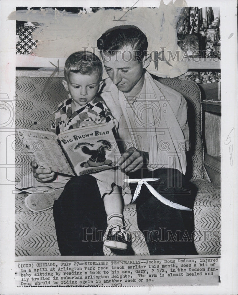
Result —
<instances>
[{"instance_id":1,"label":"boy's dark lace-up sneaker with white toe","mask_svg":"<svg viewBox=\"0 0 238 295\"><path fill-rule=\"evenodd\" d=\"M130 234L125 227L119 227L118 225L109 228L106 232L106 238L104 245L110 249L126 250L127 244L130 240Z\"/></svg>"}]
</instances>

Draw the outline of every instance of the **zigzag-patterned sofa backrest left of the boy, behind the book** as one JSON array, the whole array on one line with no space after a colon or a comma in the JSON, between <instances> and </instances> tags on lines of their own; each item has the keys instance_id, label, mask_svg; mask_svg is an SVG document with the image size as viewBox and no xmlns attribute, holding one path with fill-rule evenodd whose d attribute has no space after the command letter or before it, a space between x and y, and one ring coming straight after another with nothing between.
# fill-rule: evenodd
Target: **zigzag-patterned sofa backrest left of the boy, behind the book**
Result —
<instances>
[{"instance_id":1,"label":"zigzag-patterned sofa backrest left of the boy, behind the book","mask_svg":"<svg viewBox=\"0 0 238 295\"><path fill-rule=\"evenodd\" d=\"M50 130L58 104L68 94L63 78L16 77L16 128ZM16 147L16 181L30 171L27 150Z\"/></svg>"}]
</instances>

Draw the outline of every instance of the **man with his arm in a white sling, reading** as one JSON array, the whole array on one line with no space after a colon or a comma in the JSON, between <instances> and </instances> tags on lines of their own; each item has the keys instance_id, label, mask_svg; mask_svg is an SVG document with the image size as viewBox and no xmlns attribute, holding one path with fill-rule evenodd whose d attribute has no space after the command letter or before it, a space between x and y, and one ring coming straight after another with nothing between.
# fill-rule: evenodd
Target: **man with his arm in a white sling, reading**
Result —
<instances>
[{"instance_id":1,"label":"man with his arm in a white sling, reading","mask_svg":"<svg viewBox=\"0 0 238 295\"><path fill-rule=\"evenodd\" d=\"M134 27L107 32L97 42L109 75L101 95L119 122L124 152L120 169L129 178L160 178L150 183L156 191L192 208L194 197L184 176L186 155L181 148L188 140L186 101L146 72L147 45L146 36ZM45 172L35 168L37 180L49 179ZM159 202L145 185L136 202L138 227L151 255L196 253L188 234L193 214ZM95 178L72 178L55 201L53 214L61 255L103 255L107 221ZM190 229L184 225L188 221Z\"/></svg>"}]
</instances>

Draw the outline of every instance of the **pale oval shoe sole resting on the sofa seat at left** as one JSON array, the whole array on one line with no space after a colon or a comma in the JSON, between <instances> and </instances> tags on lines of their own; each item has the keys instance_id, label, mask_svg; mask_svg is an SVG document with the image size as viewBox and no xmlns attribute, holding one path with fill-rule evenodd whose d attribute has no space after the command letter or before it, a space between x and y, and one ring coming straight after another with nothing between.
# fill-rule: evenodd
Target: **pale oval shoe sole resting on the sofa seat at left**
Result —
<instances>
[{"instance_id":1,"label":"pale oval shoe sole resting on the sofa seat at left","mask_svg":"<svg viewBox=\"0 0 238 295\"><path fill-rule=\"evenodd\" d=\"M43 193L35 192L25 198L25 205L32 212L40 212L53 207L54 201L59 198L64 188L45 191Z\"/></svg>"}]
</instances>

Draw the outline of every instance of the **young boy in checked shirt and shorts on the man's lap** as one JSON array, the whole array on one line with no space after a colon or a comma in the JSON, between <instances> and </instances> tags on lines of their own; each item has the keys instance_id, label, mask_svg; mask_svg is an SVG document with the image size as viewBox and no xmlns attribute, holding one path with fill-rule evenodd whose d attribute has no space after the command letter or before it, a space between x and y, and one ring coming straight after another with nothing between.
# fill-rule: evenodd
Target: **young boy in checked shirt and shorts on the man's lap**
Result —
<instances>
[{"instance_id":1,"label":"young boy in checked shirt and shorts on the man's lap","mask_svg":"<svg viewBox=\"0 0 238 295\"><path fill-rule=\"evenodd\" d=\"M102 63L99 58L90 52L75 52L67 58L64 72L63 85L69 92L69 98L58 106L52 131L58 135L65 130L109 122L115 133L117 128L114 118L99 95L103 85ZM115 177L116 174L119 177ZM127 248L129 233L124 227L123 209L124 204L130 203L131 193L129 187L116 179L123 180L126 176L118 169L115 172L109 169L91 175L97 179L108 217L104 245L124 250Z\"/></svg>"}]
</instances>

